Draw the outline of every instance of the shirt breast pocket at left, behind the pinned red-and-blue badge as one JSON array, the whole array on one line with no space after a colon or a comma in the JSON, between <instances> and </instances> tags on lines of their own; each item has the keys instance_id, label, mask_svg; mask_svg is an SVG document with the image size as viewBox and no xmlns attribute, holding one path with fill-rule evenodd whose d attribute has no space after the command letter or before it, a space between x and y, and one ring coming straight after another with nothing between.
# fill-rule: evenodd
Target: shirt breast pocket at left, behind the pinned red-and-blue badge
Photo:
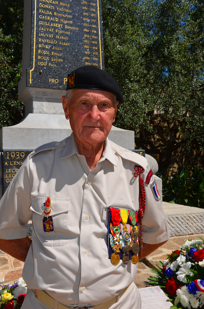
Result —
<instances>
[{"instance_id":1,"label":"shirt breast pocket at left, behind the pinned red-and-blue badge","mask_svg":"<svg viewBox=\"0 0 204 309\"><path fill-rule=\"evenodd\" d=\"M43 246L63 246L69 240L69 198L51 197L51 213L53 231L45 232L43 228L44 203L47 197L36 197L32 199L30 210L33 211L33 233Z\"/></svg>"}]
</instances>

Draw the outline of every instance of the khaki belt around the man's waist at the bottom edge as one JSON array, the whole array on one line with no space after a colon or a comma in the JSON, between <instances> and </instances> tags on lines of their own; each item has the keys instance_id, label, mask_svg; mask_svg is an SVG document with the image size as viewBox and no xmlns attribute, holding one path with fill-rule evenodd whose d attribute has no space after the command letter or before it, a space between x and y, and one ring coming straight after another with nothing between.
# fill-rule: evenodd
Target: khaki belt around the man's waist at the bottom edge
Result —
<instances>
[{"instance_id":1,"label":"khaki belt around the man's waist at the bottom edge","mask_svg":"<svg viewBox=\"0 0 204 309\"><path fill-rule=\"evenodd\" d=\"M61 303L58 303L57 301L55 301L54 298L52 298L46 291L43 290L35 290L35 297L37 297L37 299L43 303L44 305L47 305L48 307L50 307L51 309L108 309L109 307L111 307L113 304L115 304L116 302L119 301L120 297L123 296L123 294L128 290L128 288L130 287L132 283L129 284L128 287L124 288L124 290L122 292L120 292L117 296L113 297L112 299L110 299L109 301L102 303L100 305L97 306L91 306L91 307L75 307L75 308L71 308L69 306L65 306Z\"/></svg>"}]
</instances>

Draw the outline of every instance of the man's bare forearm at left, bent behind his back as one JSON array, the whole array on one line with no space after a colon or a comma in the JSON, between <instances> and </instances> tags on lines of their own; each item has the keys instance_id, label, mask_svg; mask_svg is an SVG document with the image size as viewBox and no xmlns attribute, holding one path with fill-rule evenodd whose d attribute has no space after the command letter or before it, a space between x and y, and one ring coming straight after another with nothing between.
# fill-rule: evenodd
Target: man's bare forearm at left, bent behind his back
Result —
<instances>
[{"instance_id":1,"label":"man's bare forearm at left, bent behind his back","mask_svg":"<svg viewBox=\"0 0 204 309\"><path fill-rule=\"evenodd\" d=\"M28 249L31 244L31 239L0 239L0 250L8 253L10 256L20 259L25 262Z\"/></svg>"}]
</instances>

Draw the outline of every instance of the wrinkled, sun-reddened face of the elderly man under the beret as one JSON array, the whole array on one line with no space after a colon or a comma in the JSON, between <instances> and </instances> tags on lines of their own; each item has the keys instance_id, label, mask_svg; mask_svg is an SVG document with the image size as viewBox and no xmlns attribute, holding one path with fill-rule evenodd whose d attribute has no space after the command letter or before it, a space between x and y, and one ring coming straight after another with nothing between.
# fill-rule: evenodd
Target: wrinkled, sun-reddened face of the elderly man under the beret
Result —
<instances>
[{"instance_id":1,"label":"wrinkled, sun-reddened face of the elderly man under the beret","mask_svg":"<svg viewBox=\"0 0 204 309\"><path fill-rule=\"evenodd\" d=\"M100 144L106 139L115 121L118 106L112 93L75 89L71 100L62 97L62 103L76 142Z\"/></svg>"}]
</instances>

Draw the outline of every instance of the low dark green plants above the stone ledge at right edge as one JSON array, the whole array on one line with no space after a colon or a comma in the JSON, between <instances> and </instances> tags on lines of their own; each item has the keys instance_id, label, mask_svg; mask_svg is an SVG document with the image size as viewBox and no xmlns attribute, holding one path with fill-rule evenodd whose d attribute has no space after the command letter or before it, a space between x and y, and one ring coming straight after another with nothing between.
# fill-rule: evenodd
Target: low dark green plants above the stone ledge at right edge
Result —
<instances>
[{"instance_id":1,"label":"low dark green plants above the stone ledge at right edge","mask_svg":"<svg viewBox=\"0 0 204 309\"><path fill-rule=\"evenodd\" d=\"M178 173L165 176L165 170L158 174L162 178L163 201L204 208L204 171L200 168L191 170L183 166Z\"/></svg>"}]
</instances>

